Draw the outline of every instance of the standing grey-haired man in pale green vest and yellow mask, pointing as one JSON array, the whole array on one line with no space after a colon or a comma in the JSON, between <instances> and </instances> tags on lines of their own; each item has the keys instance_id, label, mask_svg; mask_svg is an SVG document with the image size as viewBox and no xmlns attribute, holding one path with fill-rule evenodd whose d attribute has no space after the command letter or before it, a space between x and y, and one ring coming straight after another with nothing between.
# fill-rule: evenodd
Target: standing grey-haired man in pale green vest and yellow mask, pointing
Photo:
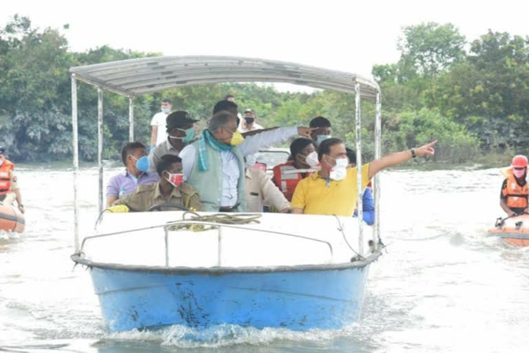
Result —
<instances>
[{"instance_id":1,"label":"standing grey-haired man in pale green vest and yellow mask, pointing","mask_svg":"<svg viewBox=\"0 0 529 353\"><path fill-rule=\"evenodd\" d=\"M295 134L308 137L311 132L304 127L277 128L244 139L237 130L236 119L226 110L217 112L200 139L179 154L184 180L198 191L209 212L246 210L244 156Z\"/></svg>"}]
</instances>

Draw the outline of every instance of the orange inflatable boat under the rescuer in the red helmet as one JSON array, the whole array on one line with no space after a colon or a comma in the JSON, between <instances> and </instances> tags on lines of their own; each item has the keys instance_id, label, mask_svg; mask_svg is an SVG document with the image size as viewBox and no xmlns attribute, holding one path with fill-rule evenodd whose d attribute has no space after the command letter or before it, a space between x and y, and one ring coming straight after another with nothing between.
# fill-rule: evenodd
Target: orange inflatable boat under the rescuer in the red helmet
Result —
<instances>
[{"instance_id":1,"label":"orange inflatable boat under the rescuer in the red helmet","mask_svg":"<svg viewBox=\"0 0 529 353\"><path fill-rule=\"evenodd\" d=\"M529 246L529 214L497 219L488 235L499 236L510 245Z\"/></svg>"}]
</instances>

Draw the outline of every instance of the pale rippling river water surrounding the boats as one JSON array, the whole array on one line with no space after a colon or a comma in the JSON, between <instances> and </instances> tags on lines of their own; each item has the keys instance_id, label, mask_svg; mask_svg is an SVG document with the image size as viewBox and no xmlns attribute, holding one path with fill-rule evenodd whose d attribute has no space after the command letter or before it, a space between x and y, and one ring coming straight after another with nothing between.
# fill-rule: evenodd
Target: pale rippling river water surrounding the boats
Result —
<instances>
[{"instance_id":1,"label":"pale rippling river water surrounding the boats","mask_svg":"<svg viewBox=\"0 0 529 353\"><path fill-rule=\"evenodd\" d=\"M180 326L105 332L90 274L73 270L72 173L22 165L27 231L0 234L0 351L528 352L529 249L486 230L501 215L488 170L382 172L382 236L362 319L342 330ZM117 172L110 168L106 177ZM106 179L106 178L105 178ZM96 168L81 170L81 231L96 218Z\"/></svg>"}]
</instances>

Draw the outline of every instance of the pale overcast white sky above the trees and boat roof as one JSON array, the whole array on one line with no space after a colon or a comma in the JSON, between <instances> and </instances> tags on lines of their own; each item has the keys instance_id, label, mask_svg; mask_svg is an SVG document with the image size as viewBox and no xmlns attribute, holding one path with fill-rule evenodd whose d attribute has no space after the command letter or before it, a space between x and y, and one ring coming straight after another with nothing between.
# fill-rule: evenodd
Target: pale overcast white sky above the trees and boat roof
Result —
<instances>
[{"instance_id":1,"label":"pale overcast white sky above the trees and boat roof","mask_svg":"<svg viewBox=\"0 0 529 353\"><path fill-rule=\"evenodd\" d=\"M137 4L136 4L137 3ZM40 28L63 28L71 50L105 44L165 55L234 55L291 61L371 77L399 59L402 27L453 23L468 40L488 29L529 35L527 1L2 0Z\"/></svg>"}]
</instances>

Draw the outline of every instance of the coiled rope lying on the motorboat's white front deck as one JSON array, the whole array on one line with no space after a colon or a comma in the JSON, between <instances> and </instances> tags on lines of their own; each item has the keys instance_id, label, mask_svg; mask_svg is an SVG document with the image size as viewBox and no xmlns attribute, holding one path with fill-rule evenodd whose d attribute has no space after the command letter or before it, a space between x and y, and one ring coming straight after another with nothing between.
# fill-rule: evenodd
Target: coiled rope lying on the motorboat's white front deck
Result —
<instances>
[{"instance_id":1,"label":"coiled rope lying on the motorboat's white front deck","mask_svg":"<svg viewBox=\"0 0 529 353\"><path fill-rule=\"evenodd\" d=\"M190 214L190 218L186 216ZM246 214L246 213L216 213L216 214L205 214L200 215L196 212L187 211L182 214L182 221L195 221L195 222L209 222L219 224L231 224L231 225L244 225L251 223L261 223L258 219L261 218L260 214ZM204 232L217 228L214 225L203 225L203 224L175 224L169 227L172 232L178 230L191 230L193 232Z\"/></svg>"}]
</instances>

